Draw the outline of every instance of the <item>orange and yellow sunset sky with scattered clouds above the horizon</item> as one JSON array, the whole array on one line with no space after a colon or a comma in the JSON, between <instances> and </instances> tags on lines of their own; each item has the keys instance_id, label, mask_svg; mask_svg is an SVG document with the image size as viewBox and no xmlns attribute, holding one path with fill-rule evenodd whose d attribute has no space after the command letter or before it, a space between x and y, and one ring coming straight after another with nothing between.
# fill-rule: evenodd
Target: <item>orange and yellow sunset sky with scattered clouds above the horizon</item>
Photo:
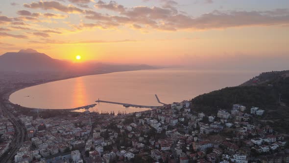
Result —
<instances>
[{"instance_id":1,"label":"orange and yellow sunset sky with scattered clouds above the horizon","mask_svg":"<svg viewBox=\"0 0 289 163\"><path fill-rule=\"evenodd\" d=\"M289 0L1 0L0 54L289 69ZM216 66L217 65L217 66Z\"/></svg>"}]
</instances>

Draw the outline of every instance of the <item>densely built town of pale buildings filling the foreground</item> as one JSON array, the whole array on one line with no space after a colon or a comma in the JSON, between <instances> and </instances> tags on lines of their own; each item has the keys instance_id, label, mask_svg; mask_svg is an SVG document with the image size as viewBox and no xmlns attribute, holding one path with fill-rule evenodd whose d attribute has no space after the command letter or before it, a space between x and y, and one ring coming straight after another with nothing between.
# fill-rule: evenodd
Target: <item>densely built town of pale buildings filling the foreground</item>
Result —
<instances>
[{"instance_id":1,"label":"densely built town of pale buildings filling the foreground","mask_svg":"<svg viewBox=\"0 0 289 163\"><path fill-rule=\"evenodd\" d=\"M25 115L4 104L0 155L19 145L15 163L289 163L288 136L259 123L265 110L257 107L235 104L205 115L183 101L130 114L65 111L43 118L46 111ZM13 143L20 131L4 107L25 130L20 144Z\"/></svg>"}]
</instances>

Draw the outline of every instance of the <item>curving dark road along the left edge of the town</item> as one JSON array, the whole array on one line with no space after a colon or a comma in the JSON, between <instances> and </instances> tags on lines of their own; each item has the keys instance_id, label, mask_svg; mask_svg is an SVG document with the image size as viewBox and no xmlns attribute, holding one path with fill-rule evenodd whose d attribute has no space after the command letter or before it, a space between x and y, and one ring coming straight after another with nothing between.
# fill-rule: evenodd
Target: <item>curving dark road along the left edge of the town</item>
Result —
<instances>
[{"instance_id":1,"label":"curving dark road along the left edge of the town","mask_svg":"<svg viewBox=\"0 0 289 163\"><path fill-rule=\"evenodd\" d=\"M9 118L9 120L14 125L15 129L15 136L13 137L10 148L8 150L8 154L1 158L1 163L11 163L12 160L14 160L14 156L16 155L18 149L21 147L21 145L24 142L25 136L25 129L24 125L20 122L20 119L18 117L15 117L3 104L3 102L0 102L0 108L3 110L3 112L6 114L6 116Z\"/></svg>"}]
</instances>

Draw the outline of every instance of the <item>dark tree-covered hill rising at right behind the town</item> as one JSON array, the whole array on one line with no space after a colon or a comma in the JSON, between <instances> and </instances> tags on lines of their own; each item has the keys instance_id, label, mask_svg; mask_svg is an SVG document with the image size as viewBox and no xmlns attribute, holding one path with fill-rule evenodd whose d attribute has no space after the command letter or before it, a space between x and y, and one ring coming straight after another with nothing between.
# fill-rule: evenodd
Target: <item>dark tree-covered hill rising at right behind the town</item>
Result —
<instances>
[{"instance_id":1,"label":"dark tree-covered hill rising at right behind the town","mask_svg":"<svg viewBox=\"0 0 289 163\"><path fill-rule=\"evenodd\" d=\"M279 95L281 98L279 99ZM192 99L192 109L217 114L218 109L231 110L233 104L265 110L261 119L280 131L289 133L289 71L262 73L235 87L226 87Z\"/></svg>"}]
</instances>

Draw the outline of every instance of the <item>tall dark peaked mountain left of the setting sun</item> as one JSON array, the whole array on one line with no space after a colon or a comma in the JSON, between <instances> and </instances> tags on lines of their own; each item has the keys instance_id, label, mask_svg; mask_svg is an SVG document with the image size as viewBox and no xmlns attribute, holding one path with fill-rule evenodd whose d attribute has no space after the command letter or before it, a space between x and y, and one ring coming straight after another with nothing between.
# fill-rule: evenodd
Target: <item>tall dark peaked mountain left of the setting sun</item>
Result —
<instances>
[{"instance_id":1,"label":"tall dark peaked mountain left of the setting sun","mask_svg":"<svg viewBox=\"0 0 289 163\"><path fill-rule=\"evenodd\" d=\"M66 68L67 65L66 61L53 59L33 49L0 55L1 71L58 71Z\"/></svg>"}]
</instances>

